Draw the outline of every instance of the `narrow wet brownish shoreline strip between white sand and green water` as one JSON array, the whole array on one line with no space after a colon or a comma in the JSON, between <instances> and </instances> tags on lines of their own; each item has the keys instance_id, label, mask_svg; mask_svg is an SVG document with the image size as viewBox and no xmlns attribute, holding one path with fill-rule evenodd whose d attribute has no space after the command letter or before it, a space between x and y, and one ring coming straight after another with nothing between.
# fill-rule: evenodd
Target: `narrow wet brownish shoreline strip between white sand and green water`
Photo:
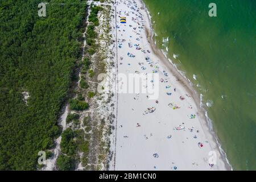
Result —
<instances>
[{"instance_id":1,"label":"narrow wet brownish shoreline strip between white sand and green water","mask_svg":"<svg viewBox=\"0 0 256 182\"><path fill-rule=\"evenodd\" d=\"M217 134L215 133L215 131L213 129L213 123L207 115L208 111L203 106L201 106L201 95L199 93L197 93L196 89L193 88L193 86L191 85L192 82L190 82L187 77L182 75L180 73L179 69L177 69L174 66L174 63L167 56L167 54L166 55L164 54L163 49L159 49L156 47L156 44L154 43L154 30L152 28L150 12L148 11L143 0L139 0L139 1L142 3L144 9L146 10L147 20L150 24L150 27L146 27L146 36L147 36L148 43L151 46L151 49L154 51L155 55L157 57L159 57L159 60L162 61L162 63L164 65L166 65L166 67L176 77L176 79L181 82L181 85L183 85L183 88L189 93L189 95L195 101L197 110L199 111L200 123L203 126L205 134L207 134L207 137L210 140L212 140L212 144L214 144L214 146L212 146L212 148L214 148L214 149L216 147L218 148L218 152L220 152L221 158L222 158L223 162L225 163L225 168L227 170L232 171L233 170L232 165L229 163L229 160L226 156L226 152L222 149L221 143L219 142Z\"/></svg>"}]
</instances>

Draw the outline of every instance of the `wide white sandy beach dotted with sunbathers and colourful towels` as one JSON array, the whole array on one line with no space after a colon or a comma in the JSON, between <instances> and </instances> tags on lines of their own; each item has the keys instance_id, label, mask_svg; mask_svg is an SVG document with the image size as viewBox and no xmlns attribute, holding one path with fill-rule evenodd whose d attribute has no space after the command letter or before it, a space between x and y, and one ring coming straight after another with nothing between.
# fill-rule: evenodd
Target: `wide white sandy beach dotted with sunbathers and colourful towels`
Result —
<instances>
[{"instance_id":1,"label":"wide white sandy beach dotted with sunbathers and colourful towels","mask_svg":"<svg viewBox=\"0 0 256 182\"><path fill-rule=\"evenodd\" d=\"M118 72L116 133L110 170L226 170L198 96L151 41L150 19L141 1L114 5ZM126 23L121 23L125 17ZM120 77L155 73L142 80L148 93L121 93ZM146 83L146 84L144 84ZM152 85L150 85L152 84Z\"/></svg>"}]
</instances>

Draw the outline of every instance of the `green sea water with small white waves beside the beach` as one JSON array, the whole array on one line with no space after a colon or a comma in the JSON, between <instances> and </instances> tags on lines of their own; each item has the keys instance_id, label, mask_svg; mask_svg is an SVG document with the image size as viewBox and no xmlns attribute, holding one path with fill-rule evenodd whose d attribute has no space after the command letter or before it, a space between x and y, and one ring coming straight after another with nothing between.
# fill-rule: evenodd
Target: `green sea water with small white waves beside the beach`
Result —
<instances>
[{"instance_id":1,"label":"green sea water with small white waves beside the beach","mask_svg":"<svg viewBox=\"0 0 256 182\"><path fill-rule=\"evenodd\" d=\"M212 2L217 17L208 15ZM233 169L256 170L256 1L144 3L154 22L156 46L168 47L168 57L203 94ZM174 59L174 54L179 56Z\"/></svg>"}]
</instances>

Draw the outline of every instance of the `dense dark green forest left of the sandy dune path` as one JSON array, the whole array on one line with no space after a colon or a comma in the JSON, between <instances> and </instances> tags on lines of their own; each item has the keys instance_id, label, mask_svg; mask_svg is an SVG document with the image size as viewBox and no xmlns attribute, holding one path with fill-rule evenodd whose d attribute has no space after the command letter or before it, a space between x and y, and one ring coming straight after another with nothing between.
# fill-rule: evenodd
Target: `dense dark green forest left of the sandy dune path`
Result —
<instances>
[{"instance_id":1,"label":"dense dark green forest left of the sandy dune path","mask_svg":"<svg viewBox=\"0 0 256 182\"><path fill-rule=\"evenodd\" d=\"M46 17L38 16L40 2L0 2L0 170L39 167L38 152L60 135L57 119L81 60L85 1L48 1ZM64 137L62 147L73 154L73 135Z\"/></svg>"}]
</instances>

